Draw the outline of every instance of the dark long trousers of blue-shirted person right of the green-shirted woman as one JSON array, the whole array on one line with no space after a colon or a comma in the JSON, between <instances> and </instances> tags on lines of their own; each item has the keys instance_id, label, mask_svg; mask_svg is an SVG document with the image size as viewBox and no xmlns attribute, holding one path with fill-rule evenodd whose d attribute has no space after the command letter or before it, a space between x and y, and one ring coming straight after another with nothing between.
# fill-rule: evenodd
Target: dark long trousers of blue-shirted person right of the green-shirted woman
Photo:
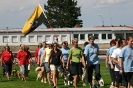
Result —
<instances>
[{"instance_id":1,"label":"dark long trousers of blue-shirted person right of the green-shirted woman","mask_svg":"<svg viewBox=\"0 0 133 88\"><path fill-rule=\"evenodd\" d=\"M90 65L90 66L87 67L88 82L89 83L92 83L93 69L95 70L95 79L96 80L100 80L101 79L100 64Z\"/></svg>"}]
</instances>

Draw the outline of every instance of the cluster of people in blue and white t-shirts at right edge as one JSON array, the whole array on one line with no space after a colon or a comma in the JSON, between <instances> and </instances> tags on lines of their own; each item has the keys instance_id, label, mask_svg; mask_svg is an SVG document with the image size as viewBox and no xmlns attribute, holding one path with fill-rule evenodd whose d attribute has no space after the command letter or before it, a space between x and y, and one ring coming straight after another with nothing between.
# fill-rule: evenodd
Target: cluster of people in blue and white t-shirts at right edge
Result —
<instances>
[{"instance_id":1,"label":"cluster of people in blue and white t-shirts at right edge","mask_svg":"<svg viewBox=\"0 0 133 88\"><path fill-rule=\"evenodd\" d=\"M106 67L111 76L110 88L130 88L133 77L133 37L126 40L116 38L110 41Z\"/></svg>"}]
</instances>

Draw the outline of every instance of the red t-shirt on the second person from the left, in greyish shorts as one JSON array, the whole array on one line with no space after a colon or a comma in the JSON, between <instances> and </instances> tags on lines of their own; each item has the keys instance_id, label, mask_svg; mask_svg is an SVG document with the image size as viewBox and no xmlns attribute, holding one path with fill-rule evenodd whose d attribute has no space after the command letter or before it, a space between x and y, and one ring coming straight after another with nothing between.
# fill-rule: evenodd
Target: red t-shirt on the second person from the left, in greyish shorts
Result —
<instances>
[{"instance_id":1,"label":"red t-shirt on the second person from the left, in greyish shorts","mask_svg":"<svg viewBox=\"0 0 133 88\"><path fill-rule=\"evenodd\" d=\"M28 65L29 64L29 58L30 58L30 55L27 51L19 51L18 54L17 54L17 58L19 59L19 64L20 65Z\"/></svg>"}]
</instances>

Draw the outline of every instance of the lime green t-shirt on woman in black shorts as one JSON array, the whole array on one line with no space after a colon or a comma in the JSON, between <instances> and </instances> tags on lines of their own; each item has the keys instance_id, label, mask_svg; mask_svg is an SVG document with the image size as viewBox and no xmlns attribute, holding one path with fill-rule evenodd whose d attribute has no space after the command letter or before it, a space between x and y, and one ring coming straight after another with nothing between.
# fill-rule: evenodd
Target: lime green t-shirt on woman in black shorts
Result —
<instances>
[{"instance_id":1,"label":"lime green t-shirt on woman in black shorts","mask_svg":"<svg viewBox=\"0 0 133 88\"><path fill-rule=\"evenodd\" d=\"M69 55L71 55L72 59L71 61L72 62L76 62L76 63L79 63L81 62L81 58L82 58L82 49L80 47L78 47L77 49L75 49L74 47L72 47L69 52L68 52Z\"/></svg>"}]
</instances>

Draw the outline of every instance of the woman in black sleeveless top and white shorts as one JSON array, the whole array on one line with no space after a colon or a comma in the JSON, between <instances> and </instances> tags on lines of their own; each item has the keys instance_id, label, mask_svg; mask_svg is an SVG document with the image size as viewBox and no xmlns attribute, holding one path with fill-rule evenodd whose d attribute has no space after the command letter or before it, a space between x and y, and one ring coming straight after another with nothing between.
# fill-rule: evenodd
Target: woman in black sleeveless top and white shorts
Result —
<instances>
[{"instance_id":1,"label":"woman in black sleeveless top and white shorts","mask_svg":"<svg viewBox=\"0 0 133 88\"><path fill-rule=\"evenodd\" d=\"M61 65L62 52L58 48L58 44L53 44L53 49L50 52L50 57L48 59L48 67L51 69L54 88L58 88L58 75L59 75L59 67Z\"/></svg>"}]
</instances>

